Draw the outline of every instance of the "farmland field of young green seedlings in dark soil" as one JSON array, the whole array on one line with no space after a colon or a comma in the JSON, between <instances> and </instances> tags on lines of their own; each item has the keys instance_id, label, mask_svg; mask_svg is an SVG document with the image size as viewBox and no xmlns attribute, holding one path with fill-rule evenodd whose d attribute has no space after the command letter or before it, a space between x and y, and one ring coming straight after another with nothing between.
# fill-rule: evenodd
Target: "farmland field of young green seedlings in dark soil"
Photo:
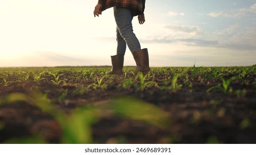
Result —
<instances>
[{"instance_id":1,"label":"farmland field of young green seedlings in dark soil","mask_svg":"<svg viewBox=\"0 0 256 155\"><path fill-rule=\"evenodd\" d=\"M255 65L110 69L1 68L0 143L256 143Z\"/></svg>"}]
</instances>

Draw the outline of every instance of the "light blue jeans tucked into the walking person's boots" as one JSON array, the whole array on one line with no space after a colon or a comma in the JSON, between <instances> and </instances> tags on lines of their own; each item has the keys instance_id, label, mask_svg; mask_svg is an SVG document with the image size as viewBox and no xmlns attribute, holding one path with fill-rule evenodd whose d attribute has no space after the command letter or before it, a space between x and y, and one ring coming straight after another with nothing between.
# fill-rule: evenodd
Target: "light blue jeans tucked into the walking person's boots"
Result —
<instances>
[{"instance_id":1,"label":"light blue jeans tucked into the walking person's boots","mask_svg":"<svg viewBox=\"0 0 256 155\"><path fill-rule=\"evenodd\" d=\"M140 42L132 29L132 16L130 9L114 7L114 16L116 21L116 54L125 55L126 44L131 53L141 49Z\"/></svg>"}]
</instances>

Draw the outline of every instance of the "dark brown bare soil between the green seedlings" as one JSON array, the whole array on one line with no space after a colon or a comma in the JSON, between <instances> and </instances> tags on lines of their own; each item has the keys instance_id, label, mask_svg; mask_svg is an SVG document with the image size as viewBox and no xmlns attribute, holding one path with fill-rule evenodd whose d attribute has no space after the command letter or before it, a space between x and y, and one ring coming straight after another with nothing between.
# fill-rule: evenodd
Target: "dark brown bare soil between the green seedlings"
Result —
<instances>
[{"instance_id":1,"label":"dark brown bare soil between the green seedlings","mask_svg":"<svg viewBox=\"0 0 256 155\"><path fill-rule=\"evenodd\" d=\"M13 92L29 95L39 89L48 92L47 97L59 110L69 113L85 104L115 96L130 96L160 107L171 116L171 123L165 128L118 116L102 116L91 127L94 143L256 143L255 75L232 82L233 92L246 90L239 95L225 94L220 89L206 93L209 87L221 80L202 81L198 78L191 81L192 87L182 86L177 92L154 86L141 91L135 86L121 87L120 81L126 79L125 76L114 77L104 89L90 88L78 94L72 92L79 90L81 85L88 86L92 81L69 79L69 73L63 74L66 85L56 85L50 80L35 82L33 79L0 83L0 99ZM166 75L157 76L155 81L161 85L160 79ZM60 99L65 91L68 95ZM34 133L40 133L47 143L60 143L63 134L52 116L27 102L16 101L0 106L0 143Z\"/></svg>"}]
</instances>

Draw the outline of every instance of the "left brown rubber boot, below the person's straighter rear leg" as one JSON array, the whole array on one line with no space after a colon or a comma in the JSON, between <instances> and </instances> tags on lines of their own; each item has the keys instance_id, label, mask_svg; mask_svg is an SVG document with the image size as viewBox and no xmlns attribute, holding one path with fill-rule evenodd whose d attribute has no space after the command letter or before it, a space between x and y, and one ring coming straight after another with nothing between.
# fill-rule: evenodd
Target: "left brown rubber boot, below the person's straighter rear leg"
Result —
<instances>
[{"instance_id":1,"label":"left brown rubber boot, below the person's straighter rear leg","mask_svg":"<svg viewBox=\"0 0 256 155\"><path fill-rule=\"evenodd\" d=\"M111 56L112 70L109 74L122 75L122 68L124 66L124 55L117 54Z\"/></svg>"}]
</instances>

